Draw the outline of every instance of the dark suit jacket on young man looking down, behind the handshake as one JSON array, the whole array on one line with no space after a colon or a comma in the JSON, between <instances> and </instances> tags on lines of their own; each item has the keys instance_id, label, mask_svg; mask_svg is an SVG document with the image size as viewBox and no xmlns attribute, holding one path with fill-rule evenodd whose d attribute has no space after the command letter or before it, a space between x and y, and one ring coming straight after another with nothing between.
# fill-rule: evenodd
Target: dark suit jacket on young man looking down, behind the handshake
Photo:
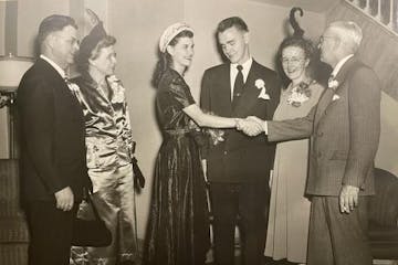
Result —
<instances>
[{"instance_id":1,"label":"dark suit jacket on young man looking down, behind the handshake","mask_svg":"<svg viewBox=\"0 0 398 265\"><path fill-rule=\"evenodd\" d=\"M261 89L255 81L265 83L269 100L259 98ZM272 119L280 99L280 80L274 71L253 60L243 93L232 109L230 64L221 64L205 72L200 105L205 112L223 117L256 116ZM235 129L226 130L226 140L212 146L206 155L208 178L214 182L268 181L273 166L275 145L266 136L248 137Z\"/></svg>"}]
</instances>

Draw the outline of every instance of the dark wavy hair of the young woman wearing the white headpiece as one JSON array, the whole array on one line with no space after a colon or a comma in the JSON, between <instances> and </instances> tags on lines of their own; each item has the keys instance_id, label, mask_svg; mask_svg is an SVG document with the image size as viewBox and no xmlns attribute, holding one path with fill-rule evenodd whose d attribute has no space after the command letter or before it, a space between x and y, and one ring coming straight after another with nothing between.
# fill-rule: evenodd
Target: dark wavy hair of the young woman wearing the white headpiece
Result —
<instances>
[{"instance_id":1,"label":"dark wavy hair of the young woman wearing the white headpiece","mask_svg":"<svg viewBox=\"0 0 398 265\"><path fill-rule=\"evenodd\" d=\"M191 31L187 31L187 30L181 31L175 38L172 38L172 40L170 41L170 43L168 45L175 46L178 43L178 40L180 38L185 38L185 36L193 38L193 33ZM159 60L156 64L154 76L153 76L153 84L156 88L158 87L160 80L161 80L163 75L165 74L165 72L170 67L171 62L172 62L172 59L171 59L171 55L167 52L167 49L164 53L159 52Z\"/></svg>"}]
</instances>

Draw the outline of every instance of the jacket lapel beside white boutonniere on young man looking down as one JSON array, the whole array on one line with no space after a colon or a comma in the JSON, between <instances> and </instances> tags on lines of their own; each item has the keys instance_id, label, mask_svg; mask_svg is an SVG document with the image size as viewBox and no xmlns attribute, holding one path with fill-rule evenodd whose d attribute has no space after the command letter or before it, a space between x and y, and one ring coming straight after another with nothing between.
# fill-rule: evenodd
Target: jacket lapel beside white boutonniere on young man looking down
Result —
<instances>
[{"instance_id":1,"label":"jacket lapel beside white boutonniere on young man looking down","mask_svg":"<svg viewBox=\"0 0 398 265\"><path fill-rule=\"evenodd\" d=\"M258 97L261 91L255 87L256 78L260 78L258 74L258 63L253 60L247 82L243 86L243 93L238 99L239 102L233 109L234 114L244 116L244 114L247 114L253 107L253 105L258 103Z\"/></svg>"}]
</instances>

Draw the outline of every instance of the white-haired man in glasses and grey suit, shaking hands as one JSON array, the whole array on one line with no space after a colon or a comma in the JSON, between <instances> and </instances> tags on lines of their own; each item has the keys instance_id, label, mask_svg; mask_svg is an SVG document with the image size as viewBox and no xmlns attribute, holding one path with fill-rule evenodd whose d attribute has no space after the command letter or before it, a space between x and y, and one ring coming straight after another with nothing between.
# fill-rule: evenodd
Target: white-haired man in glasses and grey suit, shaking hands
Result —
<instances>
[{"instance_id":1,"label":"white-haired man in glasses and grey suit, shaking hands","mask_svg":"<svg viewBox=\"0 0 398 265\"><path fill-rule=\"evenodd\" d=\"M270 140L311 136L308 265L371 264L366 208L375 192L380 85L355 55L362 38L354 22L332 23L320 49L334 70L317 106L304 118L263 123Z\"/></svg>"}]
</instances>

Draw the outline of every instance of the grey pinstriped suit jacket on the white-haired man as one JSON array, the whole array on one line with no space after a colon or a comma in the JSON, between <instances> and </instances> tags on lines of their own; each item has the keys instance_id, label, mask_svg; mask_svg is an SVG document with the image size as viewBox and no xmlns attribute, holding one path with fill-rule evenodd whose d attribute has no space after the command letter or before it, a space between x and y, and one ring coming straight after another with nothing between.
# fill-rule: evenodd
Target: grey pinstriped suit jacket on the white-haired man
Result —
<instances>
[{"instance_id":1,"label":"grey pinstriped suit jacket on the white-haired man","mask_svg":"<svg viewBox=\"0 0 398 265\"><path fill-rule=\"evenodd\" d=\"M337 73L308 116L269 123L269 139L311 135L306 192L338 195L343 184L374 193L374 159L380 134L380 85L374 71L355 57Z\"/></svg>"}]
</instances>

